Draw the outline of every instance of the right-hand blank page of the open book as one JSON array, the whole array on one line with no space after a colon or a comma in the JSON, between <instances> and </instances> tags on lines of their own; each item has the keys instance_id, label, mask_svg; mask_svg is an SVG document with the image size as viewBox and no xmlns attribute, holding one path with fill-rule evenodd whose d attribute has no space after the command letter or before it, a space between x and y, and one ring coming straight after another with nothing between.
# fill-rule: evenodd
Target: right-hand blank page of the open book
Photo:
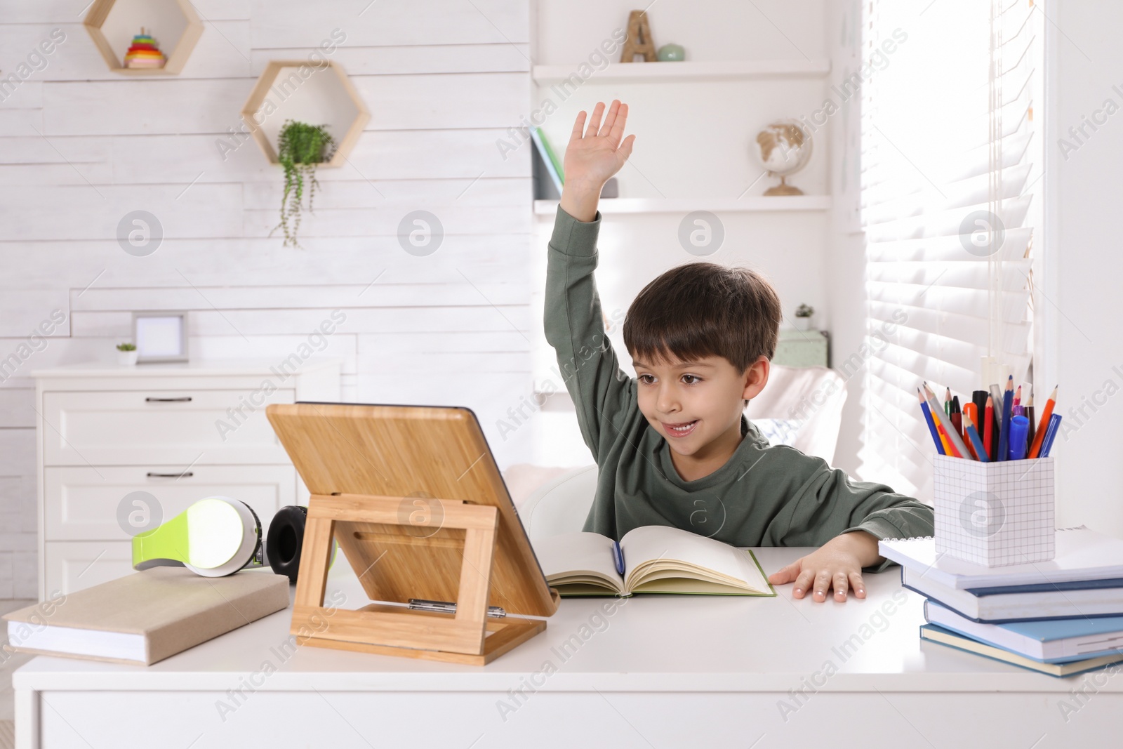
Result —
<instances>
[{"instance_id":1,"label":"right-hand blank page of the open book","mask_svg":"<svg viewBox=\"0 0 1123 749\"><path fill-rule=\"evenodd\" d=\"M642 526L620 539L629 572L651 560L682 561L732 577L757 591L770 591L768 581L747 551L670 526ZM688 570L688 567L686 567Z\"/></svg>"}]
</instances>

